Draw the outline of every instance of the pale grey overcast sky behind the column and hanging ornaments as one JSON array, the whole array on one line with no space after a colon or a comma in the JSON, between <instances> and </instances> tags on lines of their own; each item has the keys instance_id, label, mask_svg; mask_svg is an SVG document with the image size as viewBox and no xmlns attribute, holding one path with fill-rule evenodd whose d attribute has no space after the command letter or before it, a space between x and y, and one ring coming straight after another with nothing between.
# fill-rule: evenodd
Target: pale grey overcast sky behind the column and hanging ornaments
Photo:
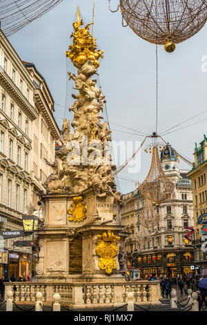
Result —
<instances>
[{"instance_id":1,"label":"pale grey overcast sky behind the column and hanging ornaments","mask_svg":"<svg viewBox=\"0 0 207 325\"><path fill-rule=\"evenodd\" d=\"M70 44L72 23L75 21L77 4L86 23L92 21L94 0L63 0L55 9L32 22L9 37L17 53L26 62L36 65L45 77L55 100L55 118L61 128L62 119L71 120L68 109L72 104L72 81L68 81L67 71L75 72L72 62L65 55ZM111 1L116 2L116 1ZM112 6L115 8L115 6ZM189 120L182 126L199 122L186 129L179 129L164 136L172 147L193 161L195 142L204 139L207 121L206 82L207 72L201 71L201 59L207 56L207 26L184 43L177 44L174 53L166 53L158 47L158 133L183 122L193 115L205 113ZM108 118L113 131L112 140L135 142L141 138L116 124L151 134L155 131L156 110L156 59L155 45L139 38L130 28L121 26L121 13L112 14L108 10L108 0L95 1L94 37L99 49L104 50L100 61L99 80L107 100ZM207 57L206 57L207 61ZM60 106L61 105L61 106ZM106 115L106 114L104 114ZM129 133L125 133L125 132ZM149 142L146 142L146 145ZM144 145L144 149L145 149ZM130 172L128 167L119 173L117 187L122 193L135 189L135 184L123 180L144 180L150 167L150 154L141 151L141 166L137 157L137 167ZM121 161L124 160L122 153ZM119 161L120 163L120 161ZM185 163L181 168L188 169Z\"/></svg>"}]
</instances>

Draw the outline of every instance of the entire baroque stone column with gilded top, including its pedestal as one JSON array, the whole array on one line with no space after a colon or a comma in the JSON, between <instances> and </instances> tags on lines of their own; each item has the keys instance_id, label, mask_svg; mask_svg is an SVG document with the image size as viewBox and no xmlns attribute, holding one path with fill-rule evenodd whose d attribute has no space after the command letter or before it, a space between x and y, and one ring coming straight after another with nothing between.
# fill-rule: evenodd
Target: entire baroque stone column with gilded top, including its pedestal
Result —
<instances>
[{"instance_id":1,"label":"entire baroque stone column with gilded top, including its pedestal","mask_svg":"<svg viewBox=\"0 0 207 325\"><path fill-rule=\"evenodd\" d=\"M91 23L93 24L93 23ZM68 72L78 91L70 131L63 120L61 148L53 173L41 194L44 219L37 232L39 263L34 281L123 281L126 276L124 226L119 212L108 141L108 123L101 123L104 96L98 89L97 74L103 51L97 50L89 32L91 24L83 26L79 8L73 24L72 45L66 56L77 68L77 75ZM118 258L119 257L119 258Z\"/></svg>"}]
</instances>

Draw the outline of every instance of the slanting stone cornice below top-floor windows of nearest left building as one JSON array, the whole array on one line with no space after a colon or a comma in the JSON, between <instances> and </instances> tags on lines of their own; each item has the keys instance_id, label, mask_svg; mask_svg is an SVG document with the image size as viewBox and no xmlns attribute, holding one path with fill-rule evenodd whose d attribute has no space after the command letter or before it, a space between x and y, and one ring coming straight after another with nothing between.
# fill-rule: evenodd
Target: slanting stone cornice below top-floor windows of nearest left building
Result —
<instances>
[{"instance_id":1,"label":"slanting stone cornice below top-floor windows of nearest left building","mask_svg":"<svg viewBox=\"0 0 207 325\"><path fill-rule=\"evenodd\" d=\"M30 120L35 120L38 116L37 111L34 110L34 107L26 99L26 97L21 93L19 88L12 82L6 71L0 66L0 82L6 88L10 96L18 102L19 106L25 113L30 117Z\"/></svg>"}]
</instances>

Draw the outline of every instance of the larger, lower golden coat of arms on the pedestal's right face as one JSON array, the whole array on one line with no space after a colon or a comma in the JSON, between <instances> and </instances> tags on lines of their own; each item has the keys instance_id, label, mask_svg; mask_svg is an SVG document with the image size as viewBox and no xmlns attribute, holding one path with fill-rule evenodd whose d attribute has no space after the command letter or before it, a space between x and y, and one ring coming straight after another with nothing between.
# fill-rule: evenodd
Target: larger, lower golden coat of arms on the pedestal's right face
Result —
<instances>
[{"instance_id":1,"label":"larger, lower golden coat of arms on the pedestal's right face","mask_svg":"<svg viewBox=\"0 0 207 325\"><path fill-rule=\"evenodd\" d=\"M110 230L103 232L103 234L98 235L98 245L95 249L96 253L99 255L99 268L101 270L106 270L106 273L110 275L113 269L117 268L117 261L115 256L117 255L117 241L120 240L119 236L115 236Z\"/></svg>"}]
</instances>

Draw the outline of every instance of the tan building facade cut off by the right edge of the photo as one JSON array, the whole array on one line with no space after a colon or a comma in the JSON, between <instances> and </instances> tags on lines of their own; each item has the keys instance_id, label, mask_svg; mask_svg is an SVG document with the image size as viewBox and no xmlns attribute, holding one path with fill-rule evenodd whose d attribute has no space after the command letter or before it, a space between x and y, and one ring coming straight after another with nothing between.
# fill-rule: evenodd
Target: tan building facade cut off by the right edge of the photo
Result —
<instances>
[{"instance_id":1,"label":"tan building facade cut off by the right edge of the photo","mask_svg":"<svg viewBox=\"0 0 207 325\"><path fill-rule=\"evenodd\" d=\"M194 265L200 270L201 275L207 276L207 254L201 250L201 245L207 238L201 231L207 225L207 138L197 144L194 151L195 163L188 176L193 186L193 214L194 214ZM205 221L206 220L206 221Z\"/></svg>"}]
</instances>

